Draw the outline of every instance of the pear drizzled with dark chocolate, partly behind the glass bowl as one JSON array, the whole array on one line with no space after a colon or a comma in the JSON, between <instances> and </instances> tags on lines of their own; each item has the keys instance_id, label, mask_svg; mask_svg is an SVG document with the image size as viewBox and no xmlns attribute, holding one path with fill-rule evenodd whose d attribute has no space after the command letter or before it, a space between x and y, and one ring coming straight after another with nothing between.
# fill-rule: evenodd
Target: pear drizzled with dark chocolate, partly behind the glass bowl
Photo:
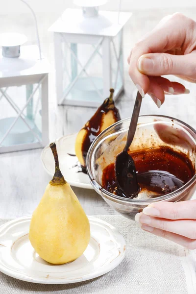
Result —
<instances>
[{"instance_id":1,"label":"pear drizzled with dark chocolate, partly behind the glass bowl","mask_svg":"<svg viewBox=\"0 0 196 294\"><path fill-rule=\"evenodd\" d=\"M110 97L99 106L92 118L83 126L75 140L75 155L83 171L86 168L86 155L95 138L108 126L121 120L119 110L113 100L114 89L110 89Z\"/></svg>"}]
</instances>

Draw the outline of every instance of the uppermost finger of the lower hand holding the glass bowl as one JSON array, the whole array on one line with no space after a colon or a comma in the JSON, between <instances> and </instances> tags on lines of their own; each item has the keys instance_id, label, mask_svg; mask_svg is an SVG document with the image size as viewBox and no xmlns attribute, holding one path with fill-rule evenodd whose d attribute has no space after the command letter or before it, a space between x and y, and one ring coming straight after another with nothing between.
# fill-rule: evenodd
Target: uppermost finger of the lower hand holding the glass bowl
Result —
<instances>
[{"instance_id":1,"label":"uppermost finger of the lower hand holding the glass bowl","mask_svg":"<svg viewBox=\"0 0 196 294\"><path fill-rule=\"evenodd\" d=\"M155 202L145 207L143 213L168 220L196 220L196 200Z\"/></svg>"}]
</instances>

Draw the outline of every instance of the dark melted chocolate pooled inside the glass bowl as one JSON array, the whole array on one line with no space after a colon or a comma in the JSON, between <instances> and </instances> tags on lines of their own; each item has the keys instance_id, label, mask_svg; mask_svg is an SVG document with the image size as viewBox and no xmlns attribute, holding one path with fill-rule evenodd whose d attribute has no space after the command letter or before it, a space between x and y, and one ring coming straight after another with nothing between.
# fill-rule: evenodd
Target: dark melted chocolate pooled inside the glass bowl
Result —
<instances>
[{"instance_id":1,"label":"dark melted chocolate pooled inside the glass bowl","mask_svg":"<svg viewBox=\"0 0 196 294\"><path fill-rule=\"evenodd\" d=\"M135 162L141 188L138 196L136 195L137 199L167 195L182 187L195 175L195 168L189 157L171 147L151 147L129 154ZM103 170L102 186L110 193L120 196L115 182L114 163Z\"/></svg>"}]
</instances>

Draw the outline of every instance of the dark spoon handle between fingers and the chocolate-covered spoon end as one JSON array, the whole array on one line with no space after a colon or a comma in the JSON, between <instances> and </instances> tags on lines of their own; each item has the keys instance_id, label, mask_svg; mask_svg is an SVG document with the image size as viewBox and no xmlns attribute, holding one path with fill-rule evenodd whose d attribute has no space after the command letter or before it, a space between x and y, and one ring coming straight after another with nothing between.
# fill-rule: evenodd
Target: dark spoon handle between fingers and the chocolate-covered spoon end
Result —
<instances>
[{"instance_id":1,"label":"dark spoon handle between fingers and the chocolate-covered spoon end","mask_svg":"<svg viewBox=\"0 0 196 294\"><path fill-rule=\"evenodd\" d=\"M140 107L142 104L142 96L140 95L140 93L137 93L136 96L136 100L135 100L135 105L133 108L133 114L131 117L131 122L129 125L129 130L128 130L128 135L127 135L127 140L126 140L126 145L124 147L124 151L128 151L129 146L131 145L134 135L135 135L135 131L137 128L137 123L138 123L138 117L140 114Z\"/></svg>"}]
</instances>

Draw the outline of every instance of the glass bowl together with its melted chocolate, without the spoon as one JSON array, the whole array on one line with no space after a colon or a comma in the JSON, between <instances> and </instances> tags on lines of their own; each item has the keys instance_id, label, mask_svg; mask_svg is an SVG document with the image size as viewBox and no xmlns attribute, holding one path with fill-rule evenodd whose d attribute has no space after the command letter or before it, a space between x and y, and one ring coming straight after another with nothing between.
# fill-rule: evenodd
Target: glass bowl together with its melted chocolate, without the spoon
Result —
<instances>
[{"instance_id":1,"label":"glass bowl together with its melted chocolate, without the spoon","mask_svg":"<svg viewBox=\"0 0 196 294\"><path fill-rule=\"evenodd\" d=\"M139 117L128 153L135 163L140 191L126 196L118 190L115 160L125 146L129 124L130 118L114 123L91 145L86 168L93 188L132 220L155 201L190 199L196 190L196 130L166 116Z\"/></svg>"}]
</instances>

